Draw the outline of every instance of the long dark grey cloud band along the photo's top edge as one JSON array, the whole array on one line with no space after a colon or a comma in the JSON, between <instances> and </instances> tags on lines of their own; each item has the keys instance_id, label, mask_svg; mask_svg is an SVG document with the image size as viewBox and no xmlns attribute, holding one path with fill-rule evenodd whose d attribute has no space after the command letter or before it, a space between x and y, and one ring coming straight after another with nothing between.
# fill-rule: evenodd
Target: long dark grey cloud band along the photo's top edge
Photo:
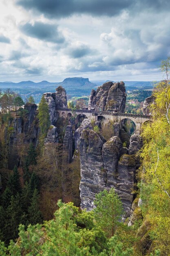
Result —
<instances>
[{"instance_id":1,"label":"long dark grey cloud band along the photo's top edge","mask_svg":"<svg viewBox=\"0 0 170 256\"><path fill-rule=\"evenodd\" d=\"M94 16L114 16L123 9L166 9L169 0L17 0L25 9L33 9L52 18L60 18L77 14Z\"/></svg>"}]
</instances>

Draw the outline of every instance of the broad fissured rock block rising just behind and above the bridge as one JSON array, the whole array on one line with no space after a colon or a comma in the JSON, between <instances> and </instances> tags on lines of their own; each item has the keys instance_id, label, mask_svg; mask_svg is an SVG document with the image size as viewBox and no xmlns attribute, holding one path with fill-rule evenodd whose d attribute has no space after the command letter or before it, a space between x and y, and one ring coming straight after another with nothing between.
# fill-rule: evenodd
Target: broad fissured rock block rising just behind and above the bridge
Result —
<instances>
[{"instance_id":1,"label":"broad fissured rock block rising just behind and above the bridge","mask_svg":"<svg viewBox=\"0 0 170 256\"><path fill-rule=\"evenodd\" d=\"M95 111L124 112L126 103L126 89L124 82L107 82L92 90L88 102L88 109Z\"/></svg>"}]
</instances>

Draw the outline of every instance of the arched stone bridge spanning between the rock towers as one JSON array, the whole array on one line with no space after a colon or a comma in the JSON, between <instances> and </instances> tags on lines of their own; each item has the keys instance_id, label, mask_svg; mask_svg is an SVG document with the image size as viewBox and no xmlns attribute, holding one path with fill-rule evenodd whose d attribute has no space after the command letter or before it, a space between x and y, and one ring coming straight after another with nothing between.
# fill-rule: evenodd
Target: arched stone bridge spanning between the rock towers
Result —
<instances>
[{"instance_id":1,"label":"arched stone bridge spanning between the rock towers","mask_svg":"<svg viewBox=\"0 0 170 256\"><path fill-rule=\"evenodd\" d=\"M136 129L135 134L140 134L141 126L146 121L151 121L152 116L149 115L135 115L135 114L126 114L126 113L115 113L115 112L95 112L94 110L79 110L79 109L69 109L69 108L60 108L57 109L57 113L60 117L68 118L75 117L75 124L78 123L79 117L90 118L94 121L103 121L108 123L113 121L114 123L121 123L124 119L130 119L135 123Z\"/></svg>"}]
</instances>

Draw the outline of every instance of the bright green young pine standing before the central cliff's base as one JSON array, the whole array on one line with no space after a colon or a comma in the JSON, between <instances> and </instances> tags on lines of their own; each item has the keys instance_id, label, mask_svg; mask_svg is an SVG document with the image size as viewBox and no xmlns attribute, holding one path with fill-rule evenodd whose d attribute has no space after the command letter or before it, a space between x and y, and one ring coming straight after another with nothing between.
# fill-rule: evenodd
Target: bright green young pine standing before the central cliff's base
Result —
<instances>
[{"instance_id":1,"label":"bright green young pine standing before the central cliff's base","mask_svg":"<svg viewBox=\"0 0 170 256\"><path fill-rule=\"evenodd\" d=\"M107 236L114 236L123 214L122 203L117 193L113 188L109 192L101 191L96 195L94 204L96 206L94 217L97 224L104 229Z\"/></svg>"}]
</instances>

